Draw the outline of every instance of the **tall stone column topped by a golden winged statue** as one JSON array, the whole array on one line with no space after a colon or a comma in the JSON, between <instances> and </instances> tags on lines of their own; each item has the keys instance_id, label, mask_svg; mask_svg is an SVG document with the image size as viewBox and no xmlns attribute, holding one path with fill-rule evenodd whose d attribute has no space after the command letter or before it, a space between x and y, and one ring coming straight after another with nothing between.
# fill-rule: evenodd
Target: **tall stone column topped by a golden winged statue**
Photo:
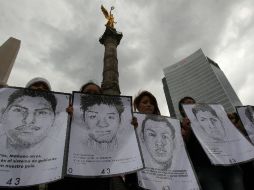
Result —
<instances>
[{"instance_id":1,"label":"tall stone column topped by a golden winged statue","mask_svg":"<svg viewBox=\"0 0 254 190\"><path fill-rule=\"evenodd\" d=\"M101 88L104 94L120 95L119 88L119 73L118 73L118 59L117 59L117 46L119 45L123 34L117 32L114 28L114 17L111 11L114 7L111 7L110 13L102 6L103 14L108 22L106 24L106 30L100 38L100 43L105 46L104 52L104 66L103 66L103 80Z\"/></svg>"}]
</instances>

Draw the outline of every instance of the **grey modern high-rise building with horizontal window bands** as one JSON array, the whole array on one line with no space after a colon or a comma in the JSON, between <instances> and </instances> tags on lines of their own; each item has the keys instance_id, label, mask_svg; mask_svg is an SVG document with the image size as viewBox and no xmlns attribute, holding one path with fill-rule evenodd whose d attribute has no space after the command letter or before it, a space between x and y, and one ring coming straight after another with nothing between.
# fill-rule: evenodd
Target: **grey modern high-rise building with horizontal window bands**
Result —
<instances>
[{"instance_id":1,"label":"grey modern high-rise building with horizontal window bands","mask_svg":"<svg viewBox=\"0 0 254 190\"><path fill-rule=\"evenodd\" d=\"M235 112L235 106L242 105L219 65L201 49L163 72L162 82L172 117L180 118L178 102L185 96L199 103L222 104L226 112Z\"/></svg>"}]
</instances>

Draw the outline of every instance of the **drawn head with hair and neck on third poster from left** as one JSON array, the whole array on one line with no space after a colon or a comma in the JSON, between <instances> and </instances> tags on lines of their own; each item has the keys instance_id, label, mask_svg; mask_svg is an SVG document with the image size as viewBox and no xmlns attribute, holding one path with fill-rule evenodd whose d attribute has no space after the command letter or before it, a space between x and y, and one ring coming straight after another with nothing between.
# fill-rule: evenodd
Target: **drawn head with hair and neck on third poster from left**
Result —
<instances>
[{"instance_id":1,"label":"drawn head with hair and neck on third poster from left","mask_svg":"<svg viewBox=\"0 0 254 190\"><path fill-rule=\"evenodd\" d=\"M152 167L169 169L175 149L175 129L172 124L166 118L147 115L142 122L140 136L151 157Z\"/></svg>"}]
</instances>

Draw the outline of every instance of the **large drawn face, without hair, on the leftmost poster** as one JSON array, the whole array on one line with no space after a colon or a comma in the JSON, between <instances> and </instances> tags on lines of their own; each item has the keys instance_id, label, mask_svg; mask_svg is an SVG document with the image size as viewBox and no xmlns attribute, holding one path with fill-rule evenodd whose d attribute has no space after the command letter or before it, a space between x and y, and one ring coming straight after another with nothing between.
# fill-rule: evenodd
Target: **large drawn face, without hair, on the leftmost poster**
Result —
<instances>
[{"instance_id":1,"label":"large drawn face, without hair, on the leftmost poster","mask_svg":"<svg viewBox=\"0 0 254 190\"><path fill-rule=\"evenodd\" d=\"M11 144L29 147L47 136L54 119L54 111L46 99L22 96L6 108L3 126Z\"/></svg>"}]
</instances>

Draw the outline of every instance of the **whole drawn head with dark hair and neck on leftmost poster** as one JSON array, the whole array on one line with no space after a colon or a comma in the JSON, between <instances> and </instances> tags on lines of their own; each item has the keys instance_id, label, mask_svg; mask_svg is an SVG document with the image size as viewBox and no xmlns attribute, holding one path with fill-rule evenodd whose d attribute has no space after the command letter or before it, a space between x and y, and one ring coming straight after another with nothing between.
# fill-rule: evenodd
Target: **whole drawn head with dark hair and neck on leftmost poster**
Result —
<instances>
[{"instance_id":1,"label":"whole drawn head with dark hair and neck on leftmost poster","mask_svg":"<svg viewBox=\"0 0 254 190\"><path fill-rule=\"evenodd\" d=\"M19 89L8 98L1 125L1 145L17 153L37 149L55 120L57 100L51 93Z\"/></svg>"}]
</instances>

